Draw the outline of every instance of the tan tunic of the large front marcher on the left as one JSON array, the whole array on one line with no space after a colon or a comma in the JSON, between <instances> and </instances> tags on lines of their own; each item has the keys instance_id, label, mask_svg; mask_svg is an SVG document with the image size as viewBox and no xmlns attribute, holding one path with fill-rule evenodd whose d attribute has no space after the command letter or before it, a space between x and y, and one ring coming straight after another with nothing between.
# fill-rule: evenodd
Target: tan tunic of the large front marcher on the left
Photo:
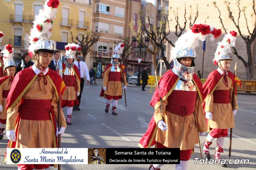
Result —
<instances>
[{"instance_id":1,"label":"tan tunic of the large front marcher on the left","mask_svg":"<svg viewBox=\"0 0 256 170\"><path fill-rule=\"evenodd\" d=\"M23 95L24 99L51 100L54 107L56 123L58 123L58 102L55 90L47 79L47 85L44 85L44 79L41 78L40 84L36 79ZM41 90L40 90L40 87ZM7 114L6 130L15 129L15 120L18 113L18 107L21 100ZM66 119L61 111L61 127L66 127ZM18 135L16 136L16 148L53 148L53 133L51 120L20 120ZM56 134L54 134L56 135ZM55 137L55 136L54 136Z\"/></svg>"}]
</instances>

